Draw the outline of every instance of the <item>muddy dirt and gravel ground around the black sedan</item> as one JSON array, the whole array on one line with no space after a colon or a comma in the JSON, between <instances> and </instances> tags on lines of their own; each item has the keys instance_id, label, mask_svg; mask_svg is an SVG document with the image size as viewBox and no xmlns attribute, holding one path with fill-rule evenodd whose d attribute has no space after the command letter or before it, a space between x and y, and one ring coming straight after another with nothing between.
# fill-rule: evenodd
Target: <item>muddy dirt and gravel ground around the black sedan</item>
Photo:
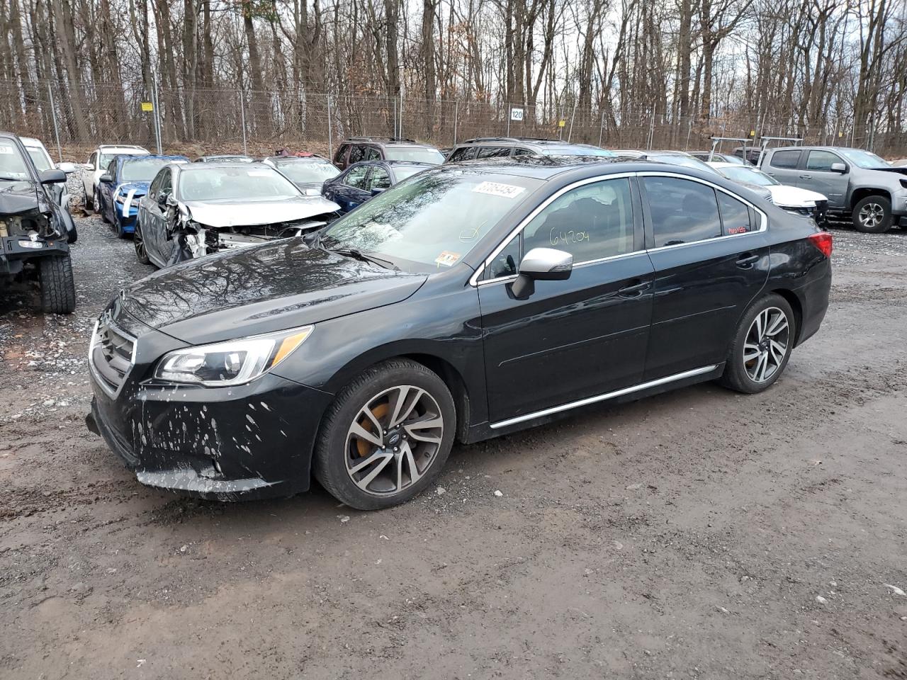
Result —
<instances>
[{"instance_id":1,"label":"muddy dirt and gravel ground around the black sedan","mask_svg":"<svg viewBox=\"0 0 907 680\"><path fill-rule=\"evenodd\" d=\"M85 353L151 270L79 230L75 314L0 301L0 677L907 678L907 231L835 231L824 326L767 393L460 446L360 513L135 481L84 427Z\"/></svg>"}]
</instances>

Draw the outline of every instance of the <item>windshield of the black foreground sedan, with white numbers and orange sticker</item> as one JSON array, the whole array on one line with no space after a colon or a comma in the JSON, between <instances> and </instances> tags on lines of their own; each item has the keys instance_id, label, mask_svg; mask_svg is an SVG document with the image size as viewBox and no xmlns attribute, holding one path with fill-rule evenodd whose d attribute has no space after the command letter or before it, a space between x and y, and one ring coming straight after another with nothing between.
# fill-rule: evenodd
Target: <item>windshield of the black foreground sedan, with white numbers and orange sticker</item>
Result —
<instances>
[{"instance_id":1,"label":"windshield of the black foreground sedan, with white numbers and orange sticker","mask_svg":"<svg viewBox=\"0 0 907 680\"><path fill-rule=\"evenodd\" d=\"M540 184L491 172L434 170L338 219L322 242L385 256L413 271L437 271L463 258Z\"/></svg>"}]
</instances>

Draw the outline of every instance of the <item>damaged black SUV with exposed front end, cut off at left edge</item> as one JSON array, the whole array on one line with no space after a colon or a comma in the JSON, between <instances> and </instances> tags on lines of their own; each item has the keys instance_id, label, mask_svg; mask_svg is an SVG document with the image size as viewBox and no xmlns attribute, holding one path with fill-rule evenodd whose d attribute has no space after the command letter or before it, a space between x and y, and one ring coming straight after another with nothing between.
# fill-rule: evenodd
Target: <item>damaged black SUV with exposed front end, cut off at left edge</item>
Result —
<instances>
[{"instance_id":1,"label":"damaged black SUV with exposed front end, cut off at left edge","mask_svg":"<svg viewBox=\"0 0 907 680\"><path fill-rule=\"evenodd\" d=\"M31 274L26 265L34 263L42 311L53 314L75 308L69 257L75 224L45 188L65 181L63 170L39 173L22 141L0 132L0 284Z\"/></svg>"}]
</instances>

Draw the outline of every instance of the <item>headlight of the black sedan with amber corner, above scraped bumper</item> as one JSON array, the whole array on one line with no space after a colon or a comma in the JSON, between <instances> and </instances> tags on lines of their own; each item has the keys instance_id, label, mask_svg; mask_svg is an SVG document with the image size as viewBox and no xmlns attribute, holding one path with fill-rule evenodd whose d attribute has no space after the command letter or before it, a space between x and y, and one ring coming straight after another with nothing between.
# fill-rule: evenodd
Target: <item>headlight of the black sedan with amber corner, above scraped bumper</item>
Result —
<instances>
[{"instance_id":1,"label":"headlight of the black sedan with amber corner, above scraped bumper","mask_svg":"<svg viewBox=\"0 0 907 680\"><path fill-rule=\"evenodd\" d=\"M311 335L314 327L307 325L280 333L178 349L163 356L154 369L154 377L205 387L249 383L286 359Z\"/></svg>"}]
</instances>

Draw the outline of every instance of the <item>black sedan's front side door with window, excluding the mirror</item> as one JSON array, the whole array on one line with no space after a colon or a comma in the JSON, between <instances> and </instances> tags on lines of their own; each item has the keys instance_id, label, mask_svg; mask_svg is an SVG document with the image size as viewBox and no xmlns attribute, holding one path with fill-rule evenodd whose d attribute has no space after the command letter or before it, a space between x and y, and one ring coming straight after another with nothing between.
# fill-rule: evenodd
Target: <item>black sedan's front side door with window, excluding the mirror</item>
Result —
<instances>
[{"instance_id":1,"label":"black sedan's front side door with window, excluding the mirror","mask_svg":"<svg viewBox=\"0 0 907 680\"><path fill-rule=\"evenodd\" d=\"M654 273L643 244L636 180L623 177L561 193L494 258L478 285L493 425L642 381ZM571 253L571 276L515 299L532 248Z\"/></svg>"}]
</instances>

